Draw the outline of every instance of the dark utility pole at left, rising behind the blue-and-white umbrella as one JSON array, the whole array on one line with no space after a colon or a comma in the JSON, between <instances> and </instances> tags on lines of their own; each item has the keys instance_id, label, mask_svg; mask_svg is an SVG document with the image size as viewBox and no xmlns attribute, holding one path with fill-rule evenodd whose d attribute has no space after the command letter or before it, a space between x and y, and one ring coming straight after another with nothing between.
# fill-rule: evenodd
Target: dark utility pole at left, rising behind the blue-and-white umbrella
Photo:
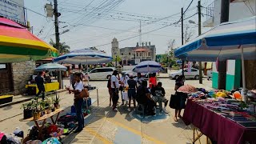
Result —
<instances>
[{"instance_id":1,"label":"dark utility pole at left, rising behind the blue-and-white umbrella","mask_svg":"<svg viewBox=\"0 0 256 144\"><path fill-rule=\"evenodd\" d=\"M56 49L62 54L62 50L59 47L59 33L58 33L58 2L54 0L54 26L55 26L55 38L56 38ZM58 71L58 82L59 82L59 89L62 89L62 71Z\"/></svg>"}]
</instances>

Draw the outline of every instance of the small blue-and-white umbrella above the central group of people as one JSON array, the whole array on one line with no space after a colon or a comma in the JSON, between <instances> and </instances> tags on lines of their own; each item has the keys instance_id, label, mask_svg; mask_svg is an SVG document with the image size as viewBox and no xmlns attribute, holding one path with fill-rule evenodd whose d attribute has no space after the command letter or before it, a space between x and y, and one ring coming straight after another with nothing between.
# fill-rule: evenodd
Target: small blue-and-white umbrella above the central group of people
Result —
<instances>
[{"instance_id":1,"label":"small blue-and-white umbrella above the central group of people","mask_svg":"<svg viewBox=\"0 0 256 144\"><path fill-rule=\"evenodd\" d=\"M157 73L160 70L162 70L162 66L154 61L140 62L134 69L137 73Z\"/></svg>"}]
</instances>

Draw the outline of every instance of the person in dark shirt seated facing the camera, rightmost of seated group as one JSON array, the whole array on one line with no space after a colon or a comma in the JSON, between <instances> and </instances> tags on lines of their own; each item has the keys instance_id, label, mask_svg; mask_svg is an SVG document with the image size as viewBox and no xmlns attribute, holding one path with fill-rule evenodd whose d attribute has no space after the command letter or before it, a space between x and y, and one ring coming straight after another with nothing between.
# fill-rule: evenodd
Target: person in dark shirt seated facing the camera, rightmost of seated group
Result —
<instances>
[{"instance_id":1,"label":"person in dark shirt seated facing the camera, rightmost of seated group","mask_svg":"<svg viewBox=\"0 0 256 144\"><path fill-rule=\"evenodd\" d=\"M168 112L166 110L168 100L165 98L166 91L162 87L162 82L158 82L158 85L151 90L151 94L153 94L154 102L164 102L165 103L165 107L163 108L163 111L166 114L168 114Z\"/></svg>"}]
</instances>

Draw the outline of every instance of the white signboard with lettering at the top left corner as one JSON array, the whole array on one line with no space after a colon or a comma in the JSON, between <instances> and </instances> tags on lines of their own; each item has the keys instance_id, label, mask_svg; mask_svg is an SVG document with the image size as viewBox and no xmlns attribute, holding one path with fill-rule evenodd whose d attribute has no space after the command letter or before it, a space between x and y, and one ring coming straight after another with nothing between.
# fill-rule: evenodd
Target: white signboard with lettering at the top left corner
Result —
<instances>
[{"instance_id":1,"label":"white signboard with lettering at the top left corner","mask_svg":"<svg viewBox=\"0 0 256 144\"><path fill-rule=\"evenodd\" d=\"M0 0L0 16L26 26L24 0Z\"/></svg>"}]
</instances>

